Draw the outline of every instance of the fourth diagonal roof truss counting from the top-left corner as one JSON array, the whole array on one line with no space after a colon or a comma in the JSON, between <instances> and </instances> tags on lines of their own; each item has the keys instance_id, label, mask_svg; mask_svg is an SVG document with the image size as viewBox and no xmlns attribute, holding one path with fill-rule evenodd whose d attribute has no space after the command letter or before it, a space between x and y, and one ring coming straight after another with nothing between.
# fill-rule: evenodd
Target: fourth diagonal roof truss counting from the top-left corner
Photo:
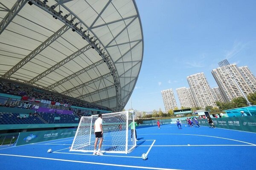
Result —
<instances>
[{"instance_id":1,"label":"fourth diagonal roof truss counting from the top-left corner","mask_svg":"<svg viewBox=\"0 0 256 170\"><path fill-rule=\"evenodd\" d=\"M90 69L92 69L92 68L94 68L94 67L96 67L96 66L98 66L98 65L101 65L102 63L104 63L104 60L103 60L103 59L102 59L102 60L99 60L98 62L93 63L92 65L89 65L89 66L86 67L86 68L83 68L83 69L77 71L77 72L74 73L74 74L71 74L71 75L68 76L68 77L65 77L64 79L61 79L61 80L58 81L58 82L55 82L55 83L52 84L52 85L49 85L49 86L46 87L45 89L51 90L52 88L55 88L56 86L61 85L62 83L67 82L68 80L73 79L74 77L77 77L78 75L83 74L84 72L86 72L86 71L88 71L88 70L90 70Z\"/></svg>"}]
</instances>

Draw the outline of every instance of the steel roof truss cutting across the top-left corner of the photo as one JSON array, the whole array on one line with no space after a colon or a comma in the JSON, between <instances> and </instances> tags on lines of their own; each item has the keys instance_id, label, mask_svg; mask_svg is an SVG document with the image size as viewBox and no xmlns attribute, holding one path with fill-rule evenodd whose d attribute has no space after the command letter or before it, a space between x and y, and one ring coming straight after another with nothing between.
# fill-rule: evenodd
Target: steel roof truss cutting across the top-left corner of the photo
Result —
<instances>
[{"instance_id":1,"label":"steel roof truss cutting across the top-left corner of the photo","mask_svg":"<svg viewBox=\"0 0 256 170\"><path fill-rule=\"evenodd\" d=\"M25 6L27 3L26 0L17 0L17 2L12 6L12 9L6 14L3 20L0 23L0 35L3 30L12 22L13 18L19 13L19 11Z\"/></svg>"}]
</instances>

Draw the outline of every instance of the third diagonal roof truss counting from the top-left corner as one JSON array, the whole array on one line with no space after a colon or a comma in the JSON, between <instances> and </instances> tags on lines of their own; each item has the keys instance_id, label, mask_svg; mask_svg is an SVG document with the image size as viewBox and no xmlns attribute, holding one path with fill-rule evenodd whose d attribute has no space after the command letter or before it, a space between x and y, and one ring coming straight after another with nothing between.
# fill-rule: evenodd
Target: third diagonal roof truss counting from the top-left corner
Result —
<instances>
[{"instance_id":1,"label":"third diagonal roof truss counting from the top-left corner","mask_svg":"<svg viewBox=\"0 0 256 170\"><path fill-rule=\"evenodd\" d=\"M85 51L89 50L90 48L91 48L90 44L84 46L83 48L79 49L75 53L71 54L69 57L61 60L60 62L58 62L57 64L53 65L51 68L49 68L48 70L46 70L43 73L39 74L37 77L31 79L28 83L29 84L33 84L33 83L37 82L39 79L45 77L47 74L51 73L52 71L56 70L57 68L60 68L65 63L67 63L67 62L71 61L72 59L78 57L80 54L83 54Z\"/></svg>"}]
</instances>

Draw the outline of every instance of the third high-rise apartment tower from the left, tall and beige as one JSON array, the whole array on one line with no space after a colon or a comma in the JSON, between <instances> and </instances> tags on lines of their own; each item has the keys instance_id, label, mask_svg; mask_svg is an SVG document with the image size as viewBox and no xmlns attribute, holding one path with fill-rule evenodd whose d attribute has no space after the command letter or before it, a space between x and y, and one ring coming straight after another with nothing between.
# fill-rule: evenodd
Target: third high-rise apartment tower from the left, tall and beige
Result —
<instances>
[{"instance_id":1,"label":"third high-rise apartment tower from the left, tall and beige","mask_svg":"<svg viewBox=\"0 0 256 170\"><path fill-rule=\"evenodd\" d=\"M204 73L193 74L187 77L195 105L201 108L206 106L216 107L212 89L207 82Z\"/></svg>"}]
</instances>

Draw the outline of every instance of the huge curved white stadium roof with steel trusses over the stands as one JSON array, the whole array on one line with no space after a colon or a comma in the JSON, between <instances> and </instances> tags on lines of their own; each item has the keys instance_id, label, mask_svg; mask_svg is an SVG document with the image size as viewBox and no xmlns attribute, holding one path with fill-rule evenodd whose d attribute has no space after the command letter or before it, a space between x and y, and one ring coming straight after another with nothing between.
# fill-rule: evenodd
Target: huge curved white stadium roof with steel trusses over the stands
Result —
<instances>
[{"instance_id":1,"label":"huge curved white stadium roof with steel trusses over the stands","mask_svg":"<svg viewBox=\"0 0 256 170\"><path fill-rule=\"evenodd\" d=\"M28 1L0 1L0 76L122 111L143 59L135 1Z\"/></svg>"}]
</instances>

